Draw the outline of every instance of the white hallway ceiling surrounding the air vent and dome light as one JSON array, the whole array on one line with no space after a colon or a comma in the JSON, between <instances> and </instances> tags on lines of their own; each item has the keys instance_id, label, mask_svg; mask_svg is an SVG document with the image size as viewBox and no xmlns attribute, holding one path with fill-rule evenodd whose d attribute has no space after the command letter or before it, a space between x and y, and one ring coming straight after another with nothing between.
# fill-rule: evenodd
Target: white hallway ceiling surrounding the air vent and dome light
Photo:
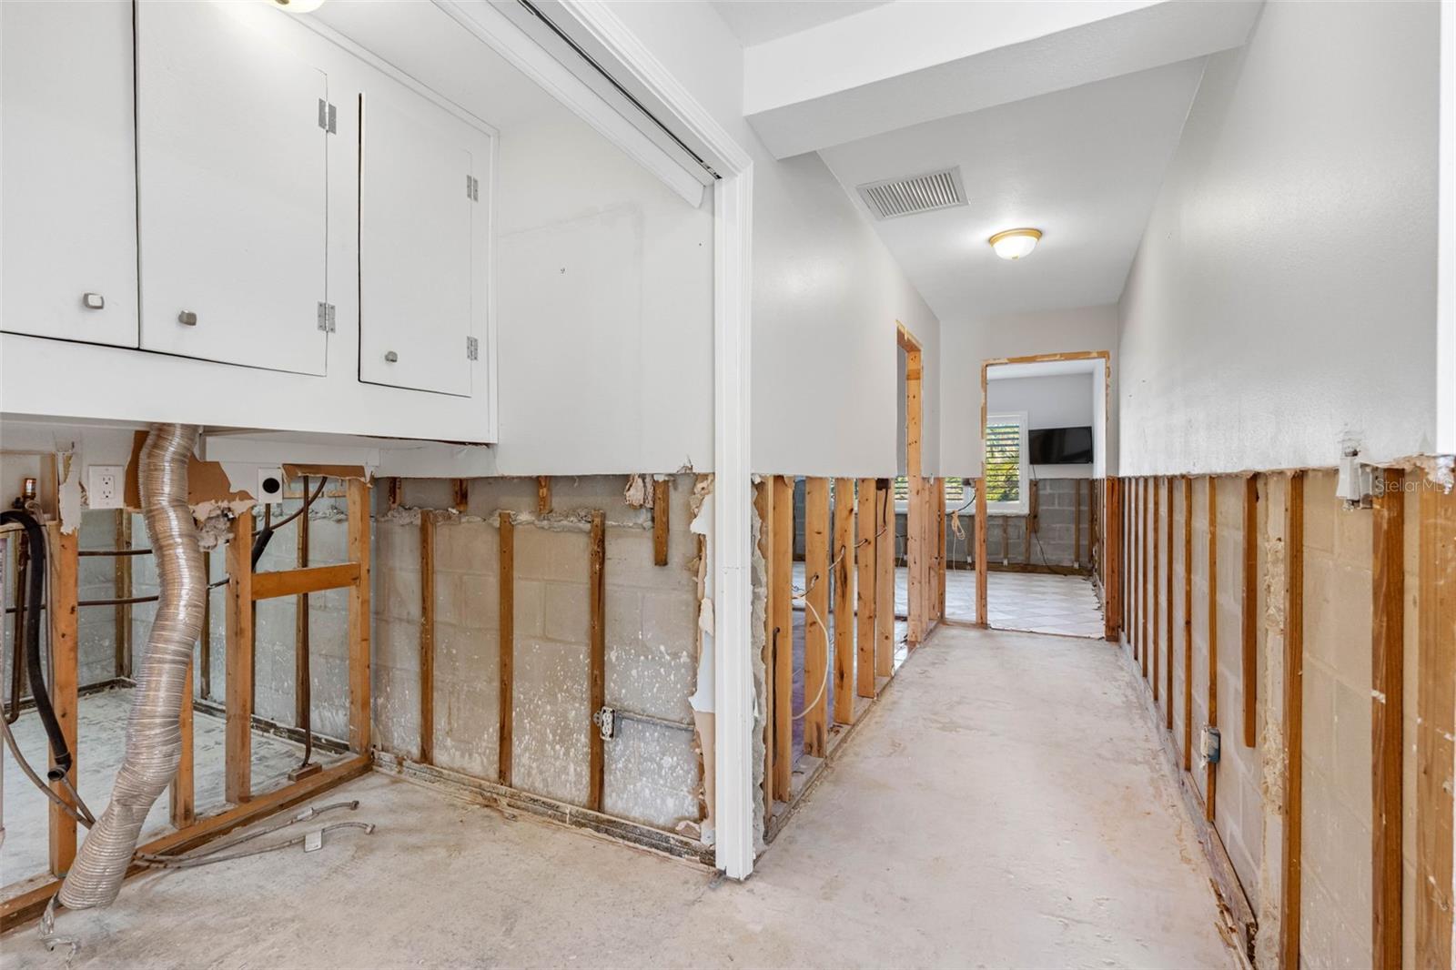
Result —
<instances>
[{"instance_id":1,"label":"white hallway ceiling surrounding the air vent and dome light","mask_svg":"<svg viewBox=\"0 0 1456 970\"><path fill-rule=\"evenodd\" d=\"M1203 58L930 121L820 154L943 323L1114 303ZM855 186L960 165L968 205L874 221ZM1044 236L1008 262L987 237Z\"/></svg>"}]
</instances>

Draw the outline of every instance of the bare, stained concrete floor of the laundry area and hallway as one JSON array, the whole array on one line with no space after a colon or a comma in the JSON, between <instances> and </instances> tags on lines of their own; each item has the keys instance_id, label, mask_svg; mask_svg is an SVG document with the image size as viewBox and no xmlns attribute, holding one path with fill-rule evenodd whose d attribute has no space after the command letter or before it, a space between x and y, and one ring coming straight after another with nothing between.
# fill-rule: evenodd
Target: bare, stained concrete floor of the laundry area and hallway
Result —
<instances>
[{"instance_id":1,"label":"bare, stained concrete floor of the laundry area and hallway","mask_svg":"<svg viewBox=\"0 0 1456 970\"><path fill-rule=\"evenodd\" d=\"M943 628L744 884L370 775L373 836L140 877L76 966L1235 967L1114 648ZM55 967L35 928L4 967Z\"/></svg>"}]
</instances>

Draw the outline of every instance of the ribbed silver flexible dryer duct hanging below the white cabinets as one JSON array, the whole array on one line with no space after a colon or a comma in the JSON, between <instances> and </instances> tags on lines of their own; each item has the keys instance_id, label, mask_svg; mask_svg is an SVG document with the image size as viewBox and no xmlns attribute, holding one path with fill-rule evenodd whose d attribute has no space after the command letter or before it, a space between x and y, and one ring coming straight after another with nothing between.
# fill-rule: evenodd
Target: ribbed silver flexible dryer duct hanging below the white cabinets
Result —
<instances>
[{"instance_id":1,"label":"ribbed silver flexible dryer duct hanging below the white cabinets","mask_svg":"<svg viewBox=\"0 0 1456 970\"><path fill-rule=\"evenodd\" d=\"M182 753L182 689L192 644L202 632L207 569L186 502L186 466L198 430L156 424L141 449L141 511L157 564L160 599L147 654L137 674L127 756L111 804L92 827L66 875L60 900L68 909L108 906L137 851L147 811L178 770Z\"/></svg>"}]
</instances>

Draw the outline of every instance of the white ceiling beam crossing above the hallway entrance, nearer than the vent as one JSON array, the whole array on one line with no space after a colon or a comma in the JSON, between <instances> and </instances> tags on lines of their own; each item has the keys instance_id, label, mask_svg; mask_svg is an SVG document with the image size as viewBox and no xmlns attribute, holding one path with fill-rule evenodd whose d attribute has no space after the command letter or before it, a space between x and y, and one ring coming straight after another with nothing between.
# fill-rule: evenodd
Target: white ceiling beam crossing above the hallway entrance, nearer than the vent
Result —
<instances>
[{"instance_id":1,"label":"white ceiling beam crossing above the hallway entrance, nearer than the vent","mask_svg":"<svg viewBox=\"0 0 1456 970\"><path fill-rule=\"evenodd\" d=\"M744 114L776 157L1239 47L1261 0L913 3L744 52Z\"/></svg>"}]
</instances>

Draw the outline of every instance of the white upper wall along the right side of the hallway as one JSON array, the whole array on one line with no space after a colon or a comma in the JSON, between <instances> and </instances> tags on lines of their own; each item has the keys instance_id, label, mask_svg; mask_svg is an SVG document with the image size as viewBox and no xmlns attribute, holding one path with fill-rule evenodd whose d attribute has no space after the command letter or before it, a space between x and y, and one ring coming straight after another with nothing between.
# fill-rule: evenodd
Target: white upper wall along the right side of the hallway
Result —
<instances>
[{"instance_id":1,"label":"white upper wall along the right side of the hallway","mask_svg":"<svg viewBox=\"0 0 1456 970\"><path fill-rule=\"evenodd\" d=\"M1123 473L1433 450L1439 10L1270 3L1208 60L1123 294Z\"/></svg>"}]
</instances>

